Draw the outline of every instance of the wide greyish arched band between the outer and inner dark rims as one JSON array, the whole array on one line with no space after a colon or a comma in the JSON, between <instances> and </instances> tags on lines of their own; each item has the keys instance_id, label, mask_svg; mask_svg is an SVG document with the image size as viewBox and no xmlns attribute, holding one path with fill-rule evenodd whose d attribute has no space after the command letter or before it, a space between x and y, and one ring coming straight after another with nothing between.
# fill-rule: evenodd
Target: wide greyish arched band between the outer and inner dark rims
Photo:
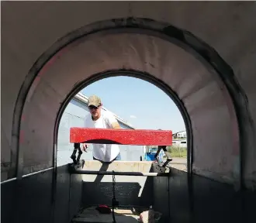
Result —
<instances>
[{"instance_id":1,"label":"wide greyish arched band between the outer and inner dark rims","mask_svg":"<svg viewBox=\"0 0 256 223\"><path fill-rule=\"evenodd\" d=\"M233 104L232 89L227 89L225 80L220 77L218 68L224 66L223 60L214 57L215 65L211 67L206 54L198 49L201 44L208 52L207 46L175 27L147 19L143 26L137 24L139 20L118 21L100 22L101 27L109 29L92 32L94 24L71 33L44 54L29 73L19 94L13 122L12 154L15 157L19 148L18 176L43 170L53 163L56 166L54 140L70 92L85 81L90 84L107 77L106 70L111 73L123 70L123 74L131 76L133 72L140 72L141 77L153 84L168 86L182 101L193 134L192 141L188 142L193 146L189 173L240 182L240 139L234 109L240 105ZM138 28L140 26L144 28ZM181 32L194 42L189 43L192 39L181 39L174 32ZM36 143L38 147L33 146Z\"/></svg>"}]
</instances>

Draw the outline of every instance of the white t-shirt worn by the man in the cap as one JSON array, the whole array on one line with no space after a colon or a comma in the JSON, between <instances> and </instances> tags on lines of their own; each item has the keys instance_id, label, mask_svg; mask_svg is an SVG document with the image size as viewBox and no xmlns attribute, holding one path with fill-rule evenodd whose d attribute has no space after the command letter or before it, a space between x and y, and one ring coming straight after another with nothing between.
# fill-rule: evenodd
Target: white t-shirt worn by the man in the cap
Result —
<instances>
[{"instance_id":1,"label":"white t-shirt worn by the man in the cap","mask_svg":"<svg viewBox=\"0 0 256 223\"><path fill-rule=\"evenodd\" d=\"M92 120L92 115L85 117L85 128L113 129L111 123L117 122L114 115L102 110L98 120ZM92 156L103 162L111 162L119 154L119 146L116 144L92 144Z\"/></svg>"}]
</instances>

